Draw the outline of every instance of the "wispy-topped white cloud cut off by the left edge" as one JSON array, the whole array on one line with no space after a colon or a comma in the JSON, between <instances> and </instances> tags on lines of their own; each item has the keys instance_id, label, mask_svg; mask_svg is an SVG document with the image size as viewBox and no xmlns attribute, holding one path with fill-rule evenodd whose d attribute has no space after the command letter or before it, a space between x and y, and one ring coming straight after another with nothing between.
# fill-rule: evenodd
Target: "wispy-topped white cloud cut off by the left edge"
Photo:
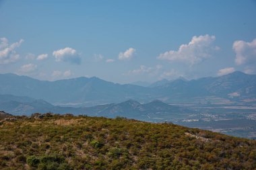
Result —
<instances>
[{"instance_id":1,"label":"wispy-topped white cloud cut off by the left edge","mask_svg":"<svg viewBox=\"0 0 256 170\"><path fill-rule=\"evenodd\" d=\"M0 38L0 64L8 64L15 62L20 58L20 55L15 52L15 48L18 48L24 40L9 44L7 38Z\"/></svg>"}]
</instances>

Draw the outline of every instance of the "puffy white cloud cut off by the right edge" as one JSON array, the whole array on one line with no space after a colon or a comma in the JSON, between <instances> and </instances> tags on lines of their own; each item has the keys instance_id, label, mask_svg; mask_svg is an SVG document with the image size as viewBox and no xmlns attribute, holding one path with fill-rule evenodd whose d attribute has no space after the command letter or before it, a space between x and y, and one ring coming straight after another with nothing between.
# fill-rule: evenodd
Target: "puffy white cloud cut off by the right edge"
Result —
<instances>
[{"instance_id":1,"label":"puffy white cloud cut off by the right edge","mask_svg":"<svg viewBox=\"0 0 256 170\"><path fill-rule=\"evenodd\" d=\"M236 65L254 65L256 63L256 39L252 42L235 41L233 50L236 52Z\"/></svg>"}]
</instances>

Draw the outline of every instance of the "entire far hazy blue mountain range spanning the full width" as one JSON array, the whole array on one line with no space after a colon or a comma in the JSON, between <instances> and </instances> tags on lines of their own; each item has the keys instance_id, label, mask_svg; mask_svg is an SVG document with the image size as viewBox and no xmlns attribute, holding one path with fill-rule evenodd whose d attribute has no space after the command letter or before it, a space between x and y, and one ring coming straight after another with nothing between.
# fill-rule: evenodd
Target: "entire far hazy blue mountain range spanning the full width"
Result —
<instances>
[{"instance_id":1,"label":"entire far hazy blue mountain range spanning the full width","mask_svg":"<svg viewBox=\"0 0 256 170\"><path fill-rule=\"evenodd\" d=\"M70 103L80 106L118 103L127 99L140 102L154 99L189 102L195 101L195 97L218 97L241 102L256 98L256 75L234 72L222 77L205 77L191 81L164 80L150 87L141 87L111 83L97 77L39 81L25 76L3 74L0 75L0 94L24 95L55 104Z\"/></svg>"}]
</instances>

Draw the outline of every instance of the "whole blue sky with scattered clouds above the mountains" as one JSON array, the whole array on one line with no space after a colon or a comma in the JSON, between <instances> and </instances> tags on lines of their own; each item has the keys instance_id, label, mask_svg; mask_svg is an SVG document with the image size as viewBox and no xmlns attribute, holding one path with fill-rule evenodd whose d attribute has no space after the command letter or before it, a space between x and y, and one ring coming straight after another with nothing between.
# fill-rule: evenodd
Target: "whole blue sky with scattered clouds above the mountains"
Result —
<instances>
[{"instance_id":1,"label":"whole blue sky with scattered clouds above the mountains","mask_svg":"<svg viewBox=\"0 0 256 170\"><path fill-rule=\"evenodd\" d=\"M0 73L117 83L256 73L256 1L1 1Z\"/></svg>"}]
</instances>

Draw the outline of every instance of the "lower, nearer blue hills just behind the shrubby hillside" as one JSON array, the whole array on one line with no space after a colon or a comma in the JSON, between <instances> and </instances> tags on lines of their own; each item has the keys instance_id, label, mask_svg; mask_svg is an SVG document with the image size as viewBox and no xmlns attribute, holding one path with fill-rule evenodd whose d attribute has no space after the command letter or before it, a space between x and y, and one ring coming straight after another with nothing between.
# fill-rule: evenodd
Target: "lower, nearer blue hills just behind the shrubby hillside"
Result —
<instances>
[{"instance_id":1,"label":"lower, nearer blue hills just behind the shrubby hillside","mask_svg":"<svg viewBox=\"0 0 256 170\"><path fill-rule=\"evenodd\" d=\"M115 118L116 116L124 116L127 118L141 118L146 114L181 114L189 112L189 110L180 108L173 105L168 105L162 101L152 101L150 103L139 103L138 101L129 99L121 103L110 103L104 105L95 105L93 107L81 107L81 108L72 108L72 107L60 107L51 105L50 103L42 99L33 99L32 101L22 102L22 98L15 96L15 100L9 100L6 98L4 101L3 96L0 95L0 110L5 110L13 115L30 115L36 112L45 113L53 112L58 114L87 114L90 116L106 116ZM12 96L14 99L14 97Z\"/></svg>"}]
</instances>

